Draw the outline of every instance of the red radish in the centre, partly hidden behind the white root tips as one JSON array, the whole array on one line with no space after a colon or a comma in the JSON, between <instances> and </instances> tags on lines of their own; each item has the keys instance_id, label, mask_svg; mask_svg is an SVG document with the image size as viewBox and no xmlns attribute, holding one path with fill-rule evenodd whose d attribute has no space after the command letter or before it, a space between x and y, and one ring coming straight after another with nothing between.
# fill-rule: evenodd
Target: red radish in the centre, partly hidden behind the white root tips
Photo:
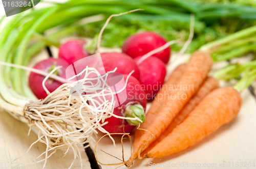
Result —
<instances>
[{"instance_id":1,"label":"red radish in the centre, partly hidden behind the white root tips","mask_svg":"<svg viewBox=\"0 0 256 169\"><path fill-rule=\"evenodd\" d=\"M112 71L117 67L116 72L129 74L132 70L132 76L139 79L139 69L135 61L125 53L111 52L100 53L105 71Z\"/></svg>"}]
</instances>

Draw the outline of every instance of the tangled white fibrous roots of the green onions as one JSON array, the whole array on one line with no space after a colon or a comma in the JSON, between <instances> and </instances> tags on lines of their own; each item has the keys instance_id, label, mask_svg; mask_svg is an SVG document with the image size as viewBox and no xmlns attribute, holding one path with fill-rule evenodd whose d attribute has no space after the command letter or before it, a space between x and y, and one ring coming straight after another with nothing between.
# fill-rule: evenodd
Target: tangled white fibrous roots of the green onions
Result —
<instances>
[{"instance_id":1,"label":"tangled white fibrous roots of the green onions","mask_svg":"<svg viewBox=\"0 0 256 169\"><path fill-rule=\"evenodd\" d=\"M77 80L81 75L83 78ZM67 152L72 149L74 160L77 155L79 157L78 147L89 143L92 134L98 133L97 130L109 134L102 128L106 118L115 116L139 120L113 115L115 93L108 87L107 78L108 73L102 76L95 68L87 67L68 79L73 82L64 83L45 99L30 102L25 106L28 125L38 130L36 142L47 145L46 152L43 153L45 164L52 155L48 152L60 148L67 148ZM125 90L127 79L122 90ZM121 91L117 93L119 92ZM112 140L114 141L113 138Z\"/></svg>"}]
</instances>

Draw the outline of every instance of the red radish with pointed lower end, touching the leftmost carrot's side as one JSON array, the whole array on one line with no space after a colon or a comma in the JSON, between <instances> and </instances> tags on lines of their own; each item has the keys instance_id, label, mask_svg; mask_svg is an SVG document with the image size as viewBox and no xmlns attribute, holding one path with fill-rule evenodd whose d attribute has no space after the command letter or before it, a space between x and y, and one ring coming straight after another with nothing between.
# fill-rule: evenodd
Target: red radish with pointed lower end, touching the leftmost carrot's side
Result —
<instances>
[{"instance_id":1,"label":"red radish with pointed lower end, touching the leftmost carrot's side","mask_svg":"<svg viewBox=\"0 0 256 169\"><path fill-rule=\"evenodd\" d=\"M137 57L138 63L141 57ZM146 98L152 100L164 83L166 75L165 64L156 57L148 57L138 64L140 70L140 83L145 90Z\"/></svg>"}]
</instances>

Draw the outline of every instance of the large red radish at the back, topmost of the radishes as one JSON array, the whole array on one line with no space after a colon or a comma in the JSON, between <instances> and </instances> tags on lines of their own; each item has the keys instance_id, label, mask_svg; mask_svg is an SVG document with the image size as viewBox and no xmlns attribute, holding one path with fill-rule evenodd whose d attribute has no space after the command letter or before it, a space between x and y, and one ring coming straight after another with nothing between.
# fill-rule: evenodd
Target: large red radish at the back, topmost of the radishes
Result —
<instances>
[{"instance_id":1,"label":"large red radish at the back, topmost of the radishes","mask_svg":"<svg viewBox=\"0 0 256 169\"><path fill-rule=\"evenodd\" d=\"M137 58L140 55L144 55L160 46L164 45L167 41L160 35L154 32L141 32L128 37L123 45L122 52L130 55L132 58ZM156 54L154 57L159 58L165 64L170 59L170 48L166 48Z\"/></svg>"}]
</instances>

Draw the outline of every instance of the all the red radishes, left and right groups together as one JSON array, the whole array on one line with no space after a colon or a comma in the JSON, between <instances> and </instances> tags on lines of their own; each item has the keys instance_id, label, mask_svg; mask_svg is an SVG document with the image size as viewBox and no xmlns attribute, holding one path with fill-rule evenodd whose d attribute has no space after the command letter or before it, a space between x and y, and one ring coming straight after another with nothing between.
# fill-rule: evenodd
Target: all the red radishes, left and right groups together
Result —
<instances>
[{"instance_id":1,"label":"all the red radishes, left and right groups together","mask_svg":"<svg viewBox=\"0 0 256 169\"><path fill-rule=\"evenodd\" d=\"M84 61L83 58L90 55L84 48L86 43L86 41L80 39L65 42L59 47L58 59L49 58L41 61L34 68L49 73L56 66L62 66L55 74L63 78L66 77L65 73L69 65L76 66L74 70L81 71L84 69L84 65L87 65L82 62ZM114 108L113 114L126 118L137 117L142 122L145 120L146 100L152 100L164 82L165 64L170 58L170 48L147 57L145 57L145 54L161 47L165 43L166 40L154 32L142 32L128 37L122 45L121 53L100 53L105 72L110 72L117 68L115 72L121 73L124 80L127 80L124 92L126 100ZM127 75L131 72L132 76L127 78ZM42 87L44 78L44 76L36 73L31 73L29 77L30 87L38 99L44 99L47 96ZM62 82L51 78L45 83L49 92L53 92L60 85L62 85ZM118 96L123 97L122 94L123 92L119 93ZM132 132L140 122L111 116L101 123L107 132L123 133Z\"/></svg>"}]
</instances>

